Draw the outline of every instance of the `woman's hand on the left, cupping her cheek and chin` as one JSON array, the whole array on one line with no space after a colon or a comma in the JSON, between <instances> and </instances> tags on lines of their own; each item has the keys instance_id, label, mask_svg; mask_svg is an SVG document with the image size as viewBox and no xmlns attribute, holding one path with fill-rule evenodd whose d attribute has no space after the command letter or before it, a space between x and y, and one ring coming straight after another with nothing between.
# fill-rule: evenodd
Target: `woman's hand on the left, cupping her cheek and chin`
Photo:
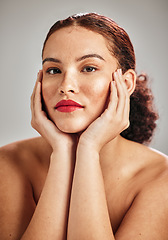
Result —
<instances>
[{"instance_id":1,"label":"woman's hand on the left, cupping her cheek and chin","mask_svg":"<svg viewBox=\"0 0 168 240\"><path fill-rule=\"evenodd\" d=\"M38 131L51 145L58 150L58 147L73 147L77 141L74 134L61 132L56 125L47 117L42 109L41 82L43 78L42 70L39 71L37 81L31 96L32 127Z\"/></svg>"}]
</instances>

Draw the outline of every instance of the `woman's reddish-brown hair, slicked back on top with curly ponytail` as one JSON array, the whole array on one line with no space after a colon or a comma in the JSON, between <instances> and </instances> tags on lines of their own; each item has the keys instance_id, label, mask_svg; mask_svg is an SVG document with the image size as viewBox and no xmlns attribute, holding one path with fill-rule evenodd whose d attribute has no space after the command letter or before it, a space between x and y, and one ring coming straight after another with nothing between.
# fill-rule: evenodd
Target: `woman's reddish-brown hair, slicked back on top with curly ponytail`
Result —
<instances>
[{"instance_id":1,"label":"woman's reddish-brown hair, slicked back on top with curly ponytail","mask_svg":"<svg viewBox=\"0 0 168 240\"><path fill-rule=\"evenodd\" d=\"M135 71L135 53L128 34L111 18L97 13L76 14L57 21L46 36L42 56L48 38L57 30L69 26L81 26L101 34L107 39L108 49L117 59L122 72L125 73L128 69ZM130 97L130 126L121 133L121 136L128 140L146 144L152 139L158 119L148 82L146 74L137 76L136 88Z\"/></svg>"}]
</instances>

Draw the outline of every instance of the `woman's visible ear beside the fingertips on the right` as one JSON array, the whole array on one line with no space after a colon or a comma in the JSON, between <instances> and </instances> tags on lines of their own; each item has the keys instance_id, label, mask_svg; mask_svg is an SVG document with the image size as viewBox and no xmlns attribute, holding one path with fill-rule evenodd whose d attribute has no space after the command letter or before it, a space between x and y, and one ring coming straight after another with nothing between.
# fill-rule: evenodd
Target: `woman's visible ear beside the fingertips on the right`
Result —
<instances>
[{"instance_id":1,"label":"woman's visible ear beside the fingertips on the right","mask_svg":"<svg viewBox=\"0 0 168 240\"><path fill-rule=\"evenodd\" d=\"M124 74L123 78L125 81L125 84L127 86L129 95L131 95L134 92L135 86L136 86L136 73L133 69L128 69Z\"/></svg>"}]
</instances>

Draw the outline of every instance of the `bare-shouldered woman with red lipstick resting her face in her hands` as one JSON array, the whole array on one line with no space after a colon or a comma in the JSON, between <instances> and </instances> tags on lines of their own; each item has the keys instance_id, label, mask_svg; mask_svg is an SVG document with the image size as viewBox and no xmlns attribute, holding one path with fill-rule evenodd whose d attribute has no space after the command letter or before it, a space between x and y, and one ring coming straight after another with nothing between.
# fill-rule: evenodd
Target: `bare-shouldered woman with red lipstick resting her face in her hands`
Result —
<instances>
[{"instance_id":1,"label":"bare-shouldered woman with red lipstick resting her face in her hands","mask_svg":"<svg viewBox=\"0 0 168 240\"><path fill-rule=\"evenodd\" d=\"M42 137L1 148L1 239L167 239L167 157L141 144L157 114L127 33L74 15L42 58L31 98Z\"/></svg>"}]
</instances>

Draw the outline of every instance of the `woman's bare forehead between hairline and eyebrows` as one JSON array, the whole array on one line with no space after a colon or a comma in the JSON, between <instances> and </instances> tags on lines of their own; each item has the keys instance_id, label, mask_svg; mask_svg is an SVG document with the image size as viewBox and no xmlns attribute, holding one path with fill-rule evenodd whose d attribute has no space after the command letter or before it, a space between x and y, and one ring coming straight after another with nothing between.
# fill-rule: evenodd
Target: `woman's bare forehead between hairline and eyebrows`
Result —
<instances>
[{"instance_id":1,"label":"woman's bare forehead between hairline and eyebrows","mask_svg":"<svg viewBox=\"0 0 168 240\"><path fill-rule=\"evenodd\" d=\"M53 33L44 48L45 57L98 53L111 57L107 40L99 33L80 26L64 27Z\"/></svg>"}]
</instances>

